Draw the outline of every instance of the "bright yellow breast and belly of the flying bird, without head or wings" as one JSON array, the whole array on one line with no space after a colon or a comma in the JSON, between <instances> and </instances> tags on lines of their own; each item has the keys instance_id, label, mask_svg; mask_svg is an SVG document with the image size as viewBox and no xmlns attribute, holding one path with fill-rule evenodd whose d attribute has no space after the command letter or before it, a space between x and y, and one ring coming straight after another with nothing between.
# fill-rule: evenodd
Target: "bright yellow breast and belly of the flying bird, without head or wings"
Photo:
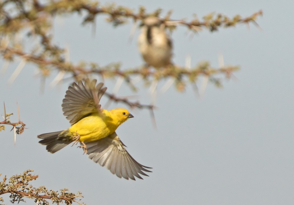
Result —
<instances>
[{"instance_id":1,"label":"bright yellow breast and belly of the flying bird, without head or wings","mask_svg":"<svg viewBox=\"0 0 294 205\"><path fill-rule=\"evenodd\" d=\"M84 117L69 128L72 135L76 132L81 136L79 141L88 142L102 139L112 134L119 124L114 120L107 110L100 114L92 114Z\"/></svg>"}]
</instances>

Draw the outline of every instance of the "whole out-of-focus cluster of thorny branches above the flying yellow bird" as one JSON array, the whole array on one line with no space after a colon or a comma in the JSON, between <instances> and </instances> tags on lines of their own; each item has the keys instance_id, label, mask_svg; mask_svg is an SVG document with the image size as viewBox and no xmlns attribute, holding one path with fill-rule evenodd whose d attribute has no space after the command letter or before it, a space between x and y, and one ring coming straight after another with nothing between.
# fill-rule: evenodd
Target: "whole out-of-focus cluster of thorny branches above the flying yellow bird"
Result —
<instances>
[{"instance_id":1,"label":"whole out-of-focus cluster of thorny branches above the flying yellow bird","mask_svg":"<svg viewBox=\"0 0 294 205\"><path fill-rule=\"evenodd\" d=\"M96 16L105 14L108 16L107 21L117 26L126 23L129 19L136 23L148 16L160 16L161 9L147 13L146 9L141 6L138 12L134 12L133 9L128 7L117 6L116 4L101 5L91 0L56 0L42 1L42 3L39 0L2 1L0 3L0 54L7 62L21 58L17 67L18 71L14 72L14 77L11 79L15 79L24 65L29 62L39 67L39 71L44 78L49 76L52 71L59 71L58 76L56 76L57 81L63 80L65 74L70 74L77 81L91 78L93 75L102 78L123 77L125 82L133 90L136 90L136 87L132 84L132 78L136 76L140 76L145 84L173 78L176 88L184 90L187 82L195 83L200 75L208 77L216 86L221 86L221 80L216 78L217 74L224 74L229 78L233 71L238 70L238 66L212 68L207 62L191 69L173 65L160 70L146 66L125 69L120 64L115 63L106 66L98 66L93 62L73 64L66 59L66 50L57 46L52 40L54 17L73 13L81 14L83 24L95 24ZM162 18L162 21L169 30L174 30L176 26L182 25L193 32L198 32L202 28L216 31L221 27L227 28L242 23L257 25L256 20L261 15L261 10L248 17L236 15L233 18L223 14L210 13L204 16L202 20L195 16L191 21L186 21L171 19L171 12L168 12ZM24 45L19 38L19 35L23 34L26 34L28 38L37 39L39 42L36 45ZM114 98L112 95L108 95L108 97L112 100L125 102L131 107L150 108L150 106L142 106L140 103L129 103L126 99Z\"/></svg>"}]
</instances>

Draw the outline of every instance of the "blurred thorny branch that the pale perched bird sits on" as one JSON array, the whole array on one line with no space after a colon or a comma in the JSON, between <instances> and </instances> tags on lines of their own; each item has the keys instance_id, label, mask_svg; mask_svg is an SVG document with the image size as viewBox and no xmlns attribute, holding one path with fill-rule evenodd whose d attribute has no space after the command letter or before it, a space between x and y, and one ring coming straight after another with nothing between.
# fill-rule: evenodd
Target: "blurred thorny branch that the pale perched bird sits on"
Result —
<instances>
[{"instance_id":1,"label":"blurred thorny branch that the pale perched bird sits on","mask_svg":"<svg viewBox=\"0 0 294 205\"><path fill-rule=\"evenodd\" d=\"M189 79L189 81L194 82L197 80L197 77L199 75L205 75L213 78L213 76L216 74L225 74L227 78L230 78L230 74L233 71L237 71L239 69L238 66L212 68L208 62L200 63L198 66L195 66L191 69L178 65L167 66L159 70L145 66L133 69L121 69L121 65L118 63L111 63L103 67L98 66L95 63L79 63L78 65L73 65L69 62L60 62L56 60L46 59L42 56L25 53L20 49L14 49L11 47L4 48L0 45L0 52L1 51L5 52L5 54L10 57L18 56L23 58L26 62L32 62L36 64L41 69L42 75L50 75L51 71L59 70L71 74L77 81L81 79L86 79L90 75L96 74L102 76L103 78L113 78L115 76L121 76L128 83L130 77L137 75L140 75L146 81L148 81L148 78L161 80L171 77L176 78L177 81L180 83L184 83L182 82L183 77L186 77ZM218 83L220 82L218 81ZM219 84L217 86L219 86Z\"/></svg>"}]
</instances>

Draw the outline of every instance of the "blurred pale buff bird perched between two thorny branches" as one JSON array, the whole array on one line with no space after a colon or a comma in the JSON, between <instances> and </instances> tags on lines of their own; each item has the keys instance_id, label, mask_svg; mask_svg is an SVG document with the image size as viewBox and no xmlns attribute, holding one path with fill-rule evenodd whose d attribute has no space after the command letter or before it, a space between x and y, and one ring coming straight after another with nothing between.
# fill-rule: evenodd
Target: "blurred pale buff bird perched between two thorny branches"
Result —
<instances>
[{"instance_id":1,"label":"blurred pale buff bird perched between two thorny branches","mask_svg":"<svg viewBox=\"0 0 294 205\"><path fill-rule=\"evenodd\" d=\"M138 47L148 66L158 69L172 64L172 41L160 18L150 16L143 20Z\"/></svg>"}]
</instances>

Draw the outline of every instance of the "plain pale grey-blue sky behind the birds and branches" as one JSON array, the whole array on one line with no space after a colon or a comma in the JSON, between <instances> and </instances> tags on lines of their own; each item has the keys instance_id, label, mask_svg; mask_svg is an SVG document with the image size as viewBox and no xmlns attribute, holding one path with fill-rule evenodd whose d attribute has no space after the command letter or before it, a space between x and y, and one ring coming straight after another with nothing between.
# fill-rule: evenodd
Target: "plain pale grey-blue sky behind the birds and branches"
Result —
<instances>
[{"instance_id":1,"label":"plain pale grey-blue sky behind the birds and branches","mask_svg":"<svg viewBox=\"0 0 294 205\"><path fill-rule=\"evenodd\" d=\"M0 103L5 101L6 111L16 114L18 101L21 120L29 129L17 136L16 146L11 127L0 133L0 173L10 177L33 169L39 175L34 186L81 191L87 204L293 204L293 1L150 0L119 4L135 11L144 5L148 12L160 7L163 14L173 9L173 19L191 19L193 13L201 18L213 11L232 17L250 16L262 9L264 15L257 20L261 31L253 24L249 30L246 25L237 25L214 33L203 30L192 40L184 27L173 32L176 64L184 65L185 57L191 55L192 66L208 60L217 67L221 52L225 65L240 65L241 70L234 73L237 79L225 80L223 88L209 84L202 99L191 86L184 93L172 86L159 95L157 129L148 110L131 110L135 117L120 126L117 134L139 163L153 167L144 180L119 179L76 147L48 153L36 136L69 127L61 103L71 82L52 88L49 84L57 74L53 73L41 94L36 67L27 64L9 84L17 66L11 64L0 74ZM104 18L100 15L97 19L96 36L92 37L91 26L80 26L78 15L58 17L54 39L69 47L73 62L121 62L125 68L143 64L136 45L139 31L129 43L132 24L113 28ZM115 79L105 83L111 91ZM149 104L148 88L142 83L137 86L138 93L123 86L118 95L136 95L132 99ZM102 105L106 101L102 98ZM108 108L116 107L126 106L112 103ZM2 105L0 112L3 115ZM17 121L17 115L11 120ZM8 197L4 197L6 204L10 203ZM31 199L26 201L32 204Z\"/></svg>"}]
</instances>

